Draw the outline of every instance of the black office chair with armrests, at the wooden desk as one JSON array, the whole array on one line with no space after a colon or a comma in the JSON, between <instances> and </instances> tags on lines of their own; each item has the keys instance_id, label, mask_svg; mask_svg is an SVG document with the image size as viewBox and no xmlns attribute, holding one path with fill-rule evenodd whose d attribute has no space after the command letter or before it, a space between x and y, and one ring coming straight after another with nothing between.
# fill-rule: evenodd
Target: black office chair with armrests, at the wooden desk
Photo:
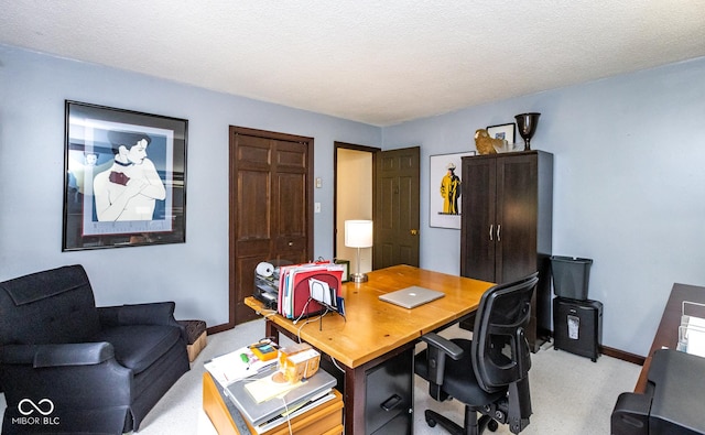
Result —
<instances>
[{"instance_id":1,"label":"black office chair with armrests, at the wooden desk","mask_svg":"<svg viewBox=\"0 0 705 435\"><path fill-rule=\"evenodd\" d=\"M429 347L416 355L414 371L429 381L429 394L440 402L454 398L465 403L465 427L426 410L429 426L437 423L452 434L476 435L485 427L496 431L498 422L514 434L529 425L531 352L524 328L538 281L536 272L485 292L473 340L447 340L435 333L421 337Z\"/></svg>"}]
</instances>

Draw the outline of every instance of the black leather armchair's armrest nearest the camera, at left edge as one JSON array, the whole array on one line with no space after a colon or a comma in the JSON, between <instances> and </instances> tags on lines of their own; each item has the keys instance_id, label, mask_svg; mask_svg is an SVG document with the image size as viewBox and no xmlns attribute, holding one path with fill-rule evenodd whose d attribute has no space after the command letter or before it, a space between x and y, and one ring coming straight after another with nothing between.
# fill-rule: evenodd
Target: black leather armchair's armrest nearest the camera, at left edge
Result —
<instances>
[{"instance_id":1,"label":"black leather armchair's armrest nearest the camera, at left edge","mask_svg":"<svg viewBox=\"0 0 705 435\"><path fill-rule=\"evenodd\" d=\"M76 342L61 345L8 345L0 351L3 365L31 365L34 368L93 366L115 359L109 342Z\"/></svg>"}]
</instances>

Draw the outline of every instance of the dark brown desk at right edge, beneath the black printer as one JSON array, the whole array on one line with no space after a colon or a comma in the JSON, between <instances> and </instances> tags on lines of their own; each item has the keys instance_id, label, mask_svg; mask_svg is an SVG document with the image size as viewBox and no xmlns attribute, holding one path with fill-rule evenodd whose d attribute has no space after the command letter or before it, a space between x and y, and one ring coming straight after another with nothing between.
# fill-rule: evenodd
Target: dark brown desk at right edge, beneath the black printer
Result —
<instances>
[{"instance_id":1,"label":"dark brown desk at right edge, beneath the black printer","mask_svg":"<svg viewBox=\"0 0 705 435\"><path fill-rule=\"evenodd\" d=\"M683 301L705 303L705 287L677 283L673 284L671 295L661 316L661 323L653 337L651 349L649 349L649 355L641 368L641 373L634 388L636 393L643 393L647 390L647 374L649 373L653 352L664 347L670 349L676 348L679 344L679 326L681 325Z\"/></svg>"}]
</instances>

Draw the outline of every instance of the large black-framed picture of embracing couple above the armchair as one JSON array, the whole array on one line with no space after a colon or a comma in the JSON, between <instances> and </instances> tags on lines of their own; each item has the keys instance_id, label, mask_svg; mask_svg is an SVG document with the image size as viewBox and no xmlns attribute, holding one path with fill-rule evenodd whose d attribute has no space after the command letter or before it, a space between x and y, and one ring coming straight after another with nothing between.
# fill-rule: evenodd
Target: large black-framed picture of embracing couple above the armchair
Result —
<instances>
[{"instance_id":1,"label":"large black-framed picture of embracing couple above the armchair","mask_svg":"<svg viewBox=\"0 0 705 435\"><path fill-rule=\"evenodd\" d=\"M186 241L188 121L65 101L62 251Z\"/></svg>"}]
</instances>

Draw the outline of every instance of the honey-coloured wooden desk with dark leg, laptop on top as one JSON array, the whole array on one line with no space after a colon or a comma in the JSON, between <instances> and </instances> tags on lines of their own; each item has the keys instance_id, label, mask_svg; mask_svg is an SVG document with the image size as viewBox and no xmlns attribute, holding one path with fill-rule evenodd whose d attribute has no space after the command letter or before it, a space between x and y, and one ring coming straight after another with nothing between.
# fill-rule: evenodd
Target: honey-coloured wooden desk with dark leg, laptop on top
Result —
<instances>
[{"instance_id":1,"label":"honey-coloured wooden desk with dark leg, laptop on top","mask_svg":"<svg viewBox=\"0 0 705 435\"><path fill-rule=\"evenodd\" d=\"M366 432L366 373L389 359L412 349L424 334L440 330L474 313L479 301L494 284L463 276L432 272L409 265L395 265L368 273L366 283L346 283L346 319L337 314L302 326L280 315L267 318L267 336L306 341L337 361L345 370L345 432ZM411 285L445 293L445 297L413 309L402 308L379 296ZM259 301L245 303L258 313L267 313ZM410 373L413 382L413 372ZM413 402L412 402L413 405Z\"/></svg>"}]
</instances>

